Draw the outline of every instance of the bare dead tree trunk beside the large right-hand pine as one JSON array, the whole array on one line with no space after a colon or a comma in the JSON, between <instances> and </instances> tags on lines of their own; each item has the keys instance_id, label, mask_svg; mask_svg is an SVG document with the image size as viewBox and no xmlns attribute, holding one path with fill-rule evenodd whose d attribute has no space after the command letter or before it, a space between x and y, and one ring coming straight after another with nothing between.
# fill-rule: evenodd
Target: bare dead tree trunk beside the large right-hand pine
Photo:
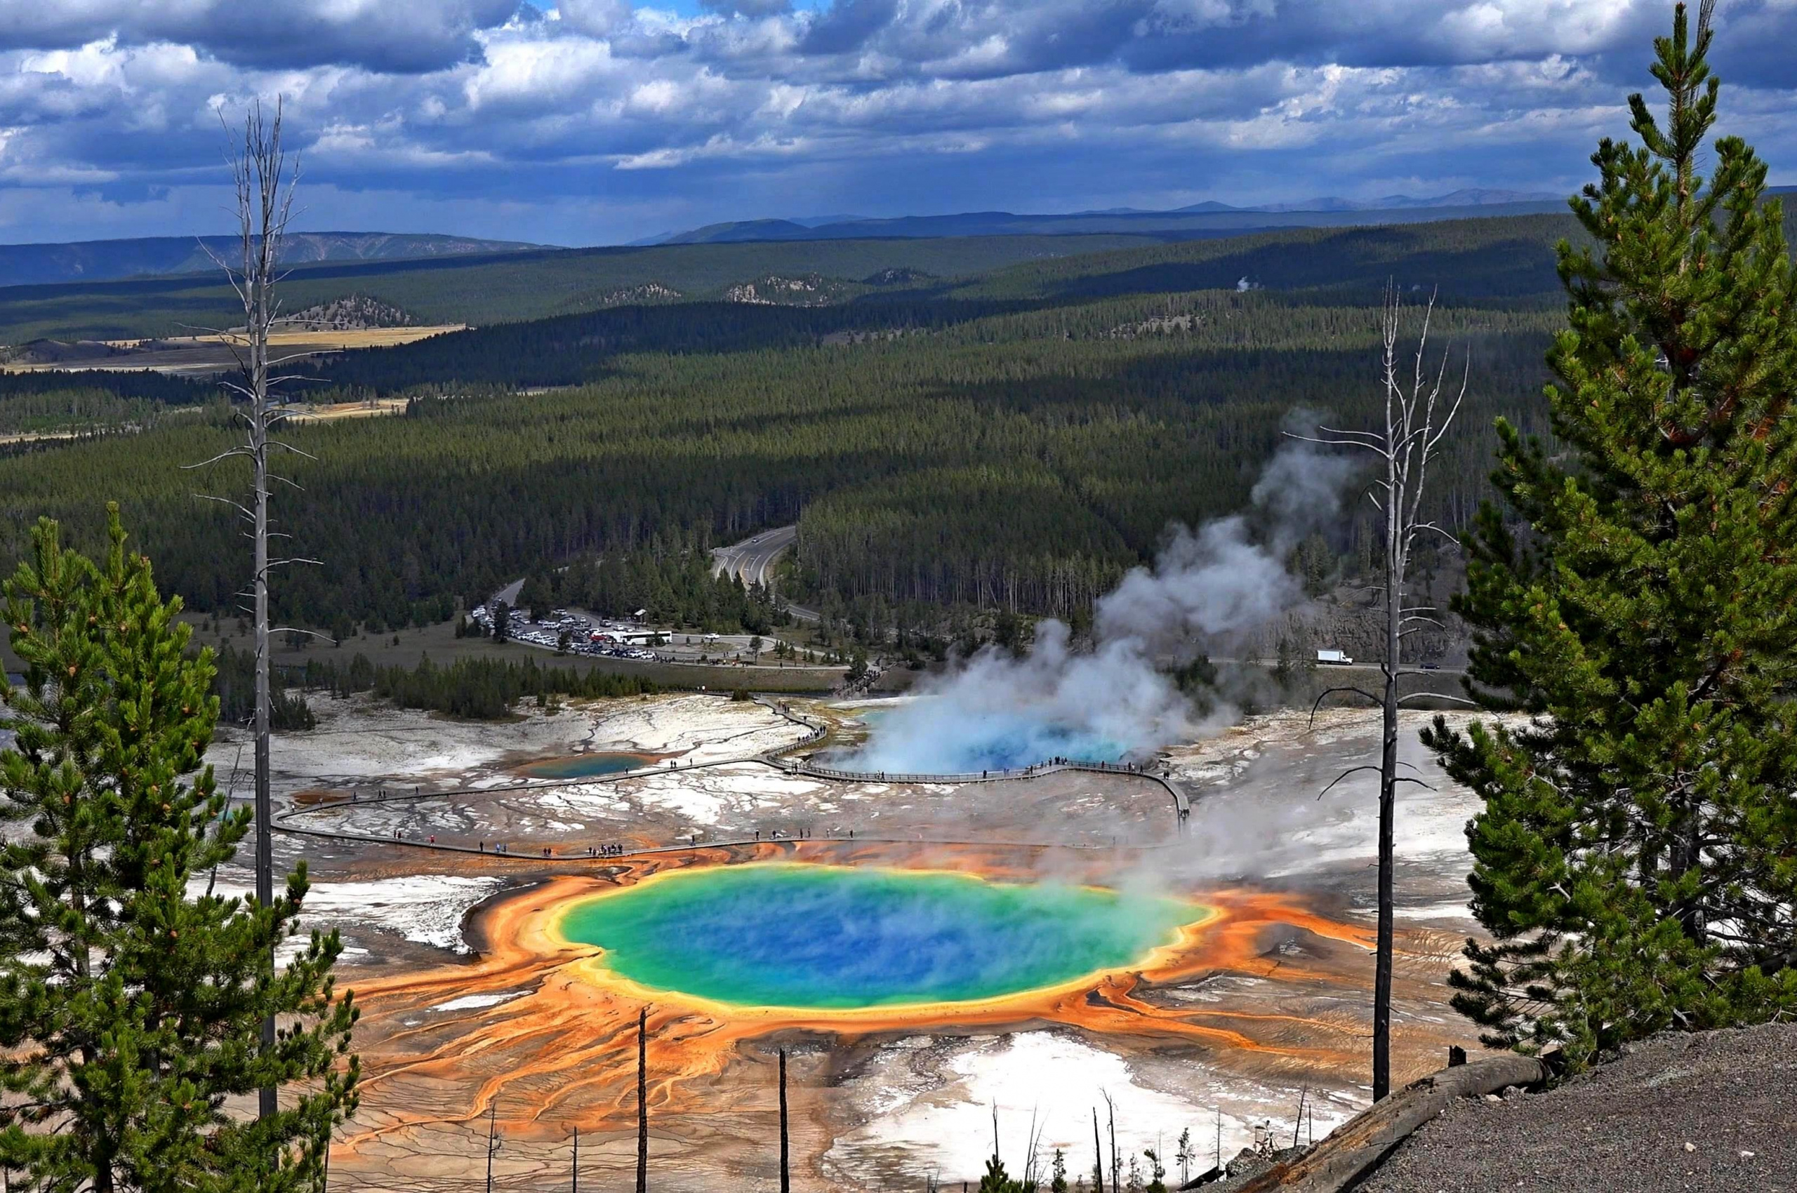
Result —
<instances>
[{"instance_id":1,"label":"bare dead tree trunk beside the large right-hand pine","mask_svg":"<svg viewBox=\"0 0 1797 1193\"><path fill-rule=\"evenodd\" d=\"M1323 704L1330 694L1344 692L1362 695L1380 706L1384 715L1384 735L1380 742L1378 765L1359 765L1342 771L1332 783L1342 782L1360 771L1378 771L1378 947L1373 965L1373 1100L1378 1101L1391 1092L1391 954L1393 954L1393 835L1396 821L1398 783L1418 783L1420 778L1398 774L1398 708L1405 699L1427 695L1421 692L1400 694L1398 681L1403 676L1421 674L1405 670L1402 665L1403 640L1425 625L1439 627L1436 609L1429 604L1407 604L1411 552L1423 534L1439 534L1450 543L1454 535L1432 521L1423 519L1423 492L1429 480L1429 465L1436 458L1441 440L1454 426L1466 397L1468 368L1461 374L1459 388L1448 392L1447 368L1448 354L1441 354L1438 368L1427 365L1429 325L1434 318L1436 300L1429 298L1423 307L1423 325L1416 336L1416 356L1405 368L1398 356L1398 336L1403 323L1403 304L1394 287L1387 287L1380 318L1384 340L1382 381L1385 386L1385 424L1373 431L1344 431L1337 428L1319 428L1317 435L1297 435L1314 444L1333 447L1351 447L1371 453L1380 464L1368 498L1378 507L1384 523L1384 593L1382 613L1382 658L1380 676L1384 692L1375 695L1359 686L1328 688L1312 706ZM1427 602L1427 595L1423 596ZM1452 699L1452 697L1436 697ZM1328 787L1324 787L1328 791Z\"/></svg>"}]
</instances>

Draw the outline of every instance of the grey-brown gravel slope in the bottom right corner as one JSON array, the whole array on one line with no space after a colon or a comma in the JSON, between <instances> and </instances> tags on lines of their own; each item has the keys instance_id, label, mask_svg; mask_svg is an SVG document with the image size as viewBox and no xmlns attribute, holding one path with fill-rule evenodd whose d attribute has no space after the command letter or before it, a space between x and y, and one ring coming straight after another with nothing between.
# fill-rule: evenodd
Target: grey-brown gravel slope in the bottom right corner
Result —
<instances>
[{"instance_id":1,"label":"grey-brown gravel slope in the bottom right corner","mask_svg":"<svg viewBox=\"0 0 1797 1193\"><path fill-rule=\"evenodd\" d=\"M1359 1193L1797 1193L1797 1026L1664 1035L1545 1094L1468 1098Z\"/></svg>"}]
</instances>

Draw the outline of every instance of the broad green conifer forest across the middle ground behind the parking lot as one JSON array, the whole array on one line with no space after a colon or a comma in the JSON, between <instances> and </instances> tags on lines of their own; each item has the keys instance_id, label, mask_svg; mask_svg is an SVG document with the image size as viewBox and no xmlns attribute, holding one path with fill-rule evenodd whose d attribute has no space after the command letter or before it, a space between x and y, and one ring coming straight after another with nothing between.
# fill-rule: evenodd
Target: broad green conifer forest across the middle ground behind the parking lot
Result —
<instances>
[{"instance_id":1,"label":"broad green conifer forest across the middle ground behind the parking lot","mask_svg":"<svg viewBox=\"0 0 1797 1193\"><path fill-rule=\"evenodd\" d=\"M1483 490L1492 415L1536 424L1549 323L1441 313L1475 377L1448 521ZM1168 521L1238 508L1294 406L1369 417L1375 327L1373 309L1263 293L1125 296L861 341L625 352L582 386L462 386L404 417L297 426L307 455L288 462L279 528L323 566L288 570L275 602L311 625L428 620L582 555L800 519L803 582L827 602L1076 614ZM92 537L117 498L165 582L232 609L241 539L192 490L243 476L181 471L232 433L201 415L9 460L0 552L40 512ZM1333 550L1369 544L1348 525Z\"/></svg>"}]
</instances>

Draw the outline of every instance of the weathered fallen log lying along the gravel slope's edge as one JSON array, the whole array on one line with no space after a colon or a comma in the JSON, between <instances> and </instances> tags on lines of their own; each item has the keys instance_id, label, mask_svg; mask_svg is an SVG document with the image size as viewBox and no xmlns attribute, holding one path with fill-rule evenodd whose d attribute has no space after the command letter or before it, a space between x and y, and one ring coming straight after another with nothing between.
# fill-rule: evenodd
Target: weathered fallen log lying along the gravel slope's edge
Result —
<instances>
[{"instance_id":1,"label":"weathered fallen log lying along the gravel slope's edge","mask_svg":"<svg viewBox=\"0 0 1797 1193\"><path fill-rule=\"evenodd\" d=\"M1341 1193L1382 1161L1412 1130L1436 1118L1456 1098L1495 1094L1506 1085L1531 1087L1547 1080L1535 1056L1495 1053L1411 1082L1396 1094L1348 1119L1303 1155L1274 1164L1236 1193Z\"/></svg>"}]
</instances>

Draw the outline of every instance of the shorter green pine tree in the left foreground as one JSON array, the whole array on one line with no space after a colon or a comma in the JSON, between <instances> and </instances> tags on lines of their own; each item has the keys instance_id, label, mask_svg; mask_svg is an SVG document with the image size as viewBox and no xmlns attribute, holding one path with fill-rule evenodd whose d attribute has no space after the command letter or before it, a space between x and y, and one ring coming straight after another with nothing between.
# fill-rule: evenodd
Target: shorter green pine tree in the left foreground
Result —
<instances>
[{"instance_id":1,"label":"shorter green pine tree in the left foreground","mask_svg":"<svg viewBox=\"0 0 1797 1193\"><path fill-rule=\"evenodd\" d=\"M110 535L95 566L40 521L4 586L25 685L0 753L0 1166L14 1189L316 1189L356 1105L341 945L314 932L273 965L304 862L271 907L214 893L250 810L201 769L212 656L189 654L117 510ZM259 1121L264 1085L286 1096Z\"/></svg>"}]
</instances>

